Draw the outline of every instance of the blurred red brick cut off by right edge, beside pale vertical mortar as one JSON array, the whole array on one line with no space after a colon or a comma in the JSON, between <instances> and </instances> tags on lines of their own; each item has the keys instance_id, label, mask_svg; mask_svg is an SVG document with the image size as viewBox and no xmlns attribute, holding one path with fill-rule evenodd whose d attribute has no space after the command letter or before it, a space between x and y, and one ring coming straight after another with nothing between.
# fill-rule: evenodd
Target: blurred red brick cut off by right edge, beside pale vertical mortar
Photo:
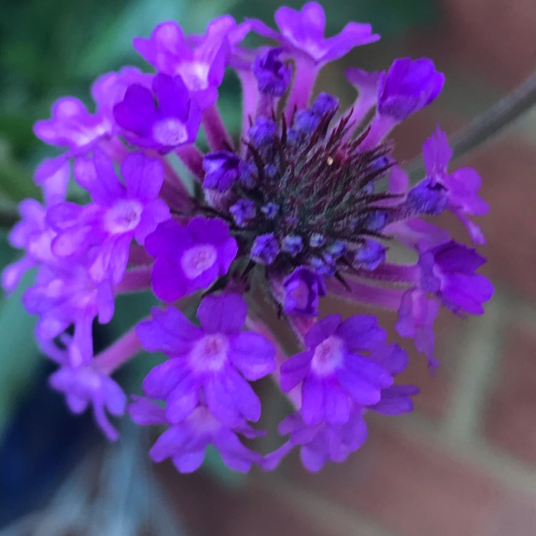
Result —
<instances>
[{"instance_id":1,"label":"blurred red brick cut off by right edge, beside pale vertical mortar","mask_svg":"<svg viewBox=\"0 0 536 536\"><path fill-rule=\"evenodd\" d=\"M536 333L515 327L487 405L487 437L512 455L536 463Z\"/></svg>"}]
</instances>

